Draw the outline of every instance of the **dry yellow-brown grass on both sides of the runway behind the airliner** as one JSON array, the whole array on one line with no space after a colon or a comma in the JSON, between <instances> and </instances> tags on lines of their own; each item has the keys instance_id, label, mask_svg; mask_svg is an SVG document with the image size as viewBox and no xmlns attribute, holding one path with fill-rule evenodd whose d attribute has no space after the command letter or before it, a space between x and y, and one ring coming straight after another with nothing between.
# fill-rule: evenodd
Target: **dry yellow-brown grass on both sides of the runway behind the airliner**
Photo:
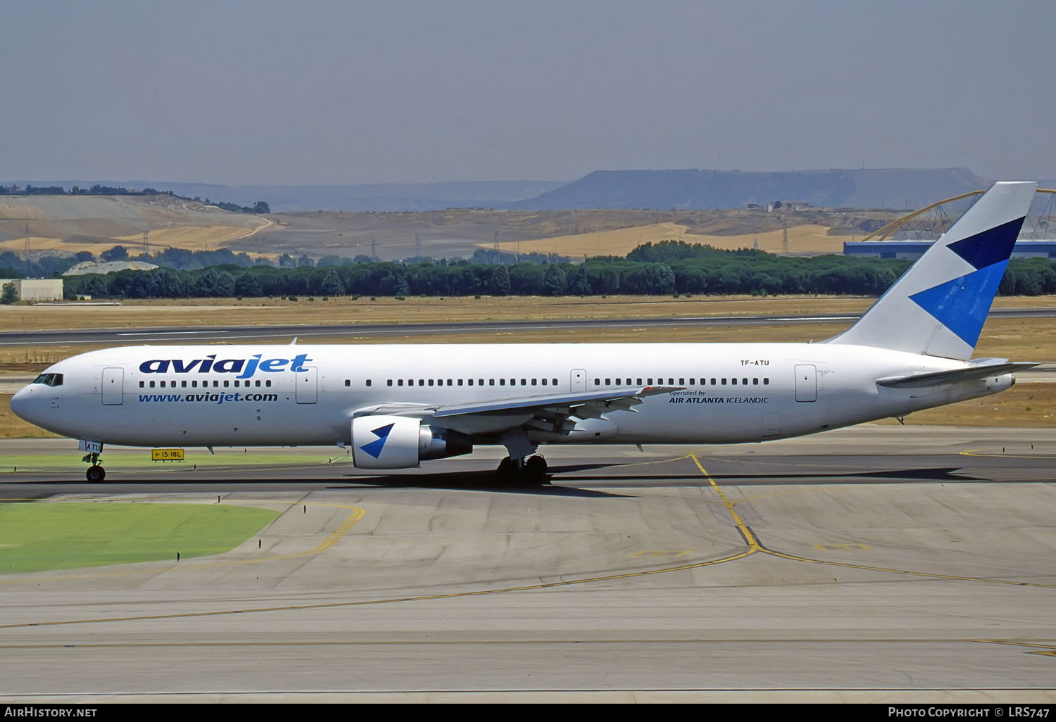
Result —
<instances>
[{"instance_id":1,"label":"dry yellow-brown grass on both sides of the runway behind the airliner","mask_svg":"<svg viewBox=\"0 0 1056 722\"><path fill-rule=\"evenodd\" d=\"M857 312L871 298L781 297L770 299L658 297L421 299L376 301L335 298L289 301L199 300L186 302L128 302L121 306L0 306L4 329L93 328L239 324L346 324L464 321L668 318L776 314ZM995 306L1053 307L1056 297L998 298ZM335 335L314 337L314 343L602 343L602 342L797 342L821 340L838 334L849 321L717 326L710 328L584 328L541 329L512 334L393 335L363 338ZM91 344L46 347L0 347L0 373L32 374L75 354L102 346ZM977 357L1021 361L1056 360L1056 319L992 318L976 349ZM961 424L1048 426L1056 418L1056 384L1020 382L997 396L920 412L907 424ZM898 423L897 421L889 421ZM880 423L888 423L883 421ZM11 414L0 395L0 438L40 436L43 432Z\"/></svg>"}]
</instances>

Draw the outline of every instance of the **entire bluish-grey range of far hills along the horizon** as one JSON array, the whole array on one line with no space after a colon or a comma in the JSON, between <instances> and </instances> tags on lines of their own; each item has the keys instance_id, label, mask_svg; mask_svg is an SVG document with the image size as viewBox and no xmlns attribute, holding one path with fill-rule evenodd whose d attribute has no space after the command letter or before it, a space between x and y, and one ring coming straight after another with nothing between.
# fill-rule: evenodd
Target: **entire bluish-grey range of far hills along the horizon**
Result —
<instances>
[{"instance_id":1,"label":"entire bluish-grey range of far hills along the horizon","mask_svg":"<svg viewBox=\"0 0 1056 722\"><path fill-rule=\"evenodd\" d=\"M7 179L12 183L13 179ZM433 184L221 186L165 180L33 180L34 186L156 188L203 201L271 212L418 212L448 208L573 210L584 208L710 210L798 201L825 208L916 209L986 188L991 182L964 168L892 168L816 171L598 170L572 183L482 180ZM1056 180L1043 180L1052 187ZM25 185L18 182L18 185Z\"/></svg>"}]
</instances>

